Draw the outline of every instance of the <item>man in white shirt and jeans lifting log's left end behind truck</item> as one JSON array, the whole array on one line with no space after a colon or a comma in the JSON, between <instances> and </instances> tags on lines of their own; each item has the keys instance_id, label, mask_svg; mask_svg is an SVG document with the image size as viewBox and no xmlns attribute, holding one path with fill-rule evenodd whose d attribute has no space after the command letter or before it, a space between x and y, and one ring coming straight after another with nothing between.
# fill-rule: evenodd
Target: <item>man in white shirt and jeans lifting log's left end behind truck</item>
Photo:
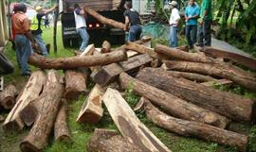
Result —
<instances>
[{"instance_id":1,"label":"man in white shirt and jeans lifting log's left end behind truck","mask_svg":"<svg viewBox=\"0 0 256 152\"><path fill-rule=\"evenodd\" d=\"M80 8L78 4L75 4L74 15L75 15L77 33L82 38L82 43L79 49L82 52L87 47L90 39L89 34L87 33L87 30L86 30L85 19L87 18L87 14L86 12L84 12L82 8Z\"/></svg>"}]
</instances>

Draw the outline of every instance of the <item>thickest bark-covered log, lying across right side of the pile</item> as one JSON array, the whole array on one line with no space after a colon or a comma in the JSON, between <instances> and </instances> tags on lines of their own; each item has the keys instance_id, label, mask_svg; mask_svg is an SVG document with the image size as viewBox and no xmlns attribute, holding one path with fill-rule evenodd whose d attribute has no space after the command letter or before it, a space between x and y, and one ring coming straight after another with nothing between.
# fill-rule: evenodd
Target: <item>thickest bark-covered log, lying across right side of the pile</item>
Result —
<instances>
[{"instance_id":1,"label":"thickest bark-covered log, lying across right side of the pile","mask_svg":"<svg viewBox=\"0 0 256 152\"><path fill-rule=\"evenodd\" d=\"M255 102L243 96L222 92L184 78L170 76L162 69L144 68L138 73L137 79L204 109L225 115L232 120L253 120Z\"/></svg>"}]
</instances>

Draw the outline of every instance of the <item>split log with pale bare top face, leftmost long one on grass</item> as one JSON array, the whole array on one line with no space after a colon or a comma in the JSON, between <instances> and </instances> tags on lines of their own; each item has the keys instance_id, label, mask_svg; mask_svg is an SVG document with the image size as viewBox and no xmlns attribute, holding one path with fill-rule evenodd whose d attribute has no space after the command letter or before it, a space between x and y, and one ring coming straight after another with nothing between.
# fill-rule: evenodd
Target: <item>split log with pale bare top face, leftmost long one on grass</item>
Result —
<instances>
[{"instance_id":1,"label":"split log with pale bare top face, leftmost long one on grass","mask_svg":"<svg viewBox=\"0 0 256 152\"><path fill-rule=\"evenodd\" d=\"M42 71L32 73L27 81L26 87L17 97L15 106L10 110L3 124L4 130L22 130L24 123L19 116L19 112L40 95L44 87L45 78L46 76Z\"/></svg>"}]
</instances>

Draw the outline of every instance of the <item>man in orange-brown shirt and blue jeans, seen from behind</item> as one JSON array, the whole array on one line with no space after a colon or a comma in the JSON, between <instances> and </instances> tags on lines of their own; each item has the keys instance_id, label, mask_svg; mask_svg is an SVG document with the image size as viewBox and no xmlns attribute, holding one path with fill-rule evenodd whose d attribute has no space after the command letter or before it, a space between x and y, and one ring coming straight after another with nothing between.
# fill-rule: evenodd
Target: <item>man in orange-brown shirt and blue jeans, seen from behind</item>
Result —
<instances>
[{"instance_id":1,"label":"man in orange-brown shirt and blue jeans, seen from behind","mask_svg":"<svg viewBox=\"0 0 256 152\"><path fill-rule=\"evenodd\" d=\"M30 23L26 16L27 7L24 3L19 4L17 12L13 15L12 24L15 31L15 46L21 61L22 76L30 76L27 60L33 53L31 42L32 34L30 31Z\"/></svg>"}]
</instances>

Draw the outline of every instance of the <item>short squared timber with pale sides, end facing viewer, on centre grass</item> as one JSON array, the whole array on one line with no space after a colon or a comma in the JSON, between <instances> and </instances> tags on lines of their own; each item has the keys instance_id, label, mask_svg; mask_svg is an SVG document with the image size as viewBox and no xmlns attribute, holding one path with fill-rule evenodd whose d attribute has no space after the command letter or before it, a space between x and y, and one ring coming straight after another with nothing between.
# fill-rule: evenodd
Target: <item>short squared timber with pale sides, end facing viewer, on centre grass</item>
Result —
<instances>
[{"instance_id":1,"label":"short squared timber with pale sides, end facing viewer, on centre grass","mask_svg":"<svg viewBox=\"0 0 256 152\"><path fill-rule=\"evenodd\" d=\"M78 123L96 124L100 121L103 115L102 94L103 89L96 84L82 105L77 118Z\"/></svg>"}]
</instances>

